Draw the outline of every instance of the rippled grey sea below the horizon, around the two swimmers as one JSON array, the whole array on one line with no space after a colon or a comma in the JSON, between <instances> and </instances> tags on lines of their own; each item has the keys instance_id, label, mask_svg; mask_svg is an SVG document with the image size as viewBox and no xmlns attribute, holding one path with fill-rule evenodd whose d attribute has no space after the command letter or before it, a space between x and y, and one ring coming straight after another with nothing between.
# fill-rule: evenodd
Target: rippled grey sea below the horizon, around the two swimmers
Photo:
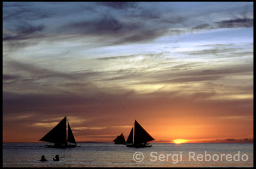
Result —
<instances>
[{"instance_id":1,"label":"rippled grey sea below the horizon, around the two swimmers","mask_svg":"<svg viewBox=\"0 0 256 169\"><path fill-rule=\"evenodd\" d=\"M3 167L253 166L253 144L153 143L150 148L128 148L113 143L78 143L81 147L70 149L47 148L45 145L3 143ZM60 161L54 162L56 154ZM42 155L48 161L40 162Z\"/></svg>"}]
</instances>

